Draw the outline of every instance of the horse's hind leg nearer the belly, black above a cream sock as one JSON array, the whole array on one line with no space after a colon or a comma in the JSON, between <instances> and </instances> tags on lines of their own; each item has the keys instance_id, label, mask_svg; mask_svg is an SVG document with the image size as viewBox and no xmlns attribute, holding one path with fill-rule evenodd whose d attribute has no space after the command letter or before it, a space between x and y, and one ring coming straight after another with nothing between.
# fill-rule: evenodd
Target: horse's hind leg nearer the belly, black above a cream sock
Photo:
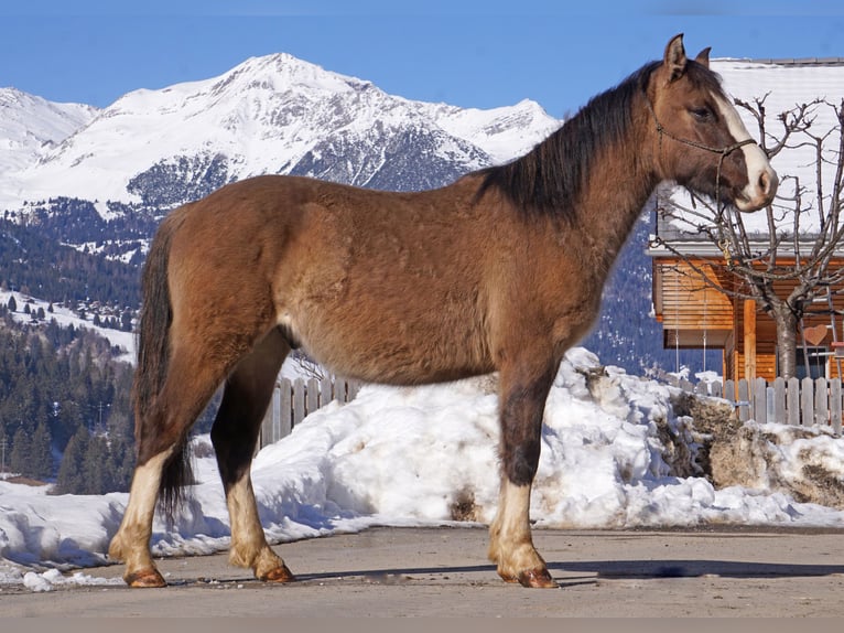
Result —
<instances>
[{"instance_id":1,"label":"horse's hind leg nearer the belly, black above a cream sock","mask_svg":"<svg viewBox=\"0 0 844 633\"><path fill-rule=\"evenodd\" d=\"M293 580L293 575L267 544L252 491L250 464L275 377L289 351L281 333L272 330L242 358L226 380L212 428L212 443L231 523L229 562L251 567L257 578L275 582Z\"/></svg>"}]
</instances>

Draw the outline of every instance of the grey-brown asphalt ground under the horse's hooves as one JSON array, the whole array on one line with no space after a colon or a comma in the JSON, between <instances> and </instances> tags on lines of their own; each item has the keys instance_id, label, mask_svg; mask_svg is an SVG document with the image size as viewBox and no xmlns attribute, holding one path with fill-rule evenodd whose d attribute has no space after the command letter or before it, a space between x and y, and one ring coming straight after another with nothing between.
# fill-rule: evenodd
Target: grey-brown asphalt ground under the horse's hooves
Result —
<instances>
[{"instance_id":1,"label":"grey-brown asphalt ground under the horse's hooves","mask_svg":"<svg viewBox=\"0 0 844 633\"><path fill-rule=\"evenodd\" d=\"M36 593L0 586L0 614L64 623L150 616L844 616L844 530L537 529L534 543L559 589L502 582L486 560L486 529L385 527L277 546L297 576L294 583L255 580L249 570L230 567L225 554L165 558L158 565L166 588L74 584ZM119 578L122 566L84 571Z\"/></svg>"}]
</instances>

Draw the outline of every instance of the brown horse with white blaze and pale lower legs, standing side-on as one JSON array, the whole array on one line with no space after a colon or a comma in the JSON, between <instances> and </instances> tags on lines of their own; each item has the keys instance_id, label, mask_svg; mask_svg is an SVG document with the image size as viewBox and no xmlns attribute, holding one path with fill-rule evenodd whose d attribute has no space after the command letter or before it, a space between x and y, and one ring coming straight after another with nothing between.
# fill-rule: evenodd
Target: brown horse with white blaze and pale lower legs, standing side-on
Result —
<instances>
[{"instance_id":1,"label":"brown horse with white blaze and pale lower legs, standing side-on","mask_svg":"<svg viewBox=\"0 0 844 633\"><path fill-rule=\"evenodd\" d=\"M501 484L489 558L507 581L555 587L529 523L545 398L664 180L742 211L769 204L777 187L708 69L708 50L688 60L682 35L527 155L443 189L261 176L173 212L143 272L138 463L109 548L126 561L126 581L165 584L149 549L156 501L162 492L171 511L177 502L188 430L223 383L212 441L230 561L262 580L293 580L264 538L250 464L282 361L302 346L374 383L498 372Z\"/></svg>"}]
</instances>

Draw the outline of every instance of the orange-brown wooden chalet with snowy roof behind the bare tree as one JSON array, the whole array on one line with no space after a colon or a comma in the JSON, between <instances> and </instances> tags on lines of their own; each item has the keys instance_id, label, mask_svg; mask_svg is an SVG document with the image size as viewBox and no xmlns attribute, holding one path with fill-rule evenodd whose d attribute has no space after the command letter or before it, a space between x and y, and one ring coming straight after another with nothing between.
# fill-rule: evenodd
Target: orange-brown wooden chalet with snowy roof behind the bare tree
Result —
<instances>
[{"instance_id":1,"label":"orange-brown wooden chalet with snowy roof behind the bare tree","mask_svg":"<svg viewBox=\"0 0 844 633\"><path fill-rule=\"evenodd\" d=\"M814 98L827 98L841 103L844 98L844 60L800 61L713 61L713 69L722 74L727 93L750 101L755 96L768 95L767 116L776 116L796 104ZM744 114L743 114L744 116ZM757 136L753 121L746 120L748 130ZM771 128L775 129L773 124ZM779 131L779 130L776 130ZM782 152L783 155L786 152ZM780 174L794 175L794 170L805 169L801 159L783 159L771 162ZM797 161L797 162L794 162ZM814 169L811 164L809 169ZM802 182L811 181L803 178ZM677 190L672 190L675 194ZM731 297L707 285L699 272L704 272L718 285L736 289L740 278L729 271L725 253L714 244L702 239L700 234L683 230L672 223L670 214L661 211L667 194L657 196L657 236L648 254L652 258L653 311L662 323L662 345L669 350L721 350L724 379L761 377L773 380L778 375L777 336L773 320L761 312L753 300ZM671 193L669 193L671 195ZM764 215L765 212L759 212ZM758 236L767 243L766 235ZM666 247L666 244L670 248ZM661 244L654 246L654 244ZM764 250L764 246L760 250ZM787 259L780 258L786 264ZM793 261L793 256L792 256ZM842 257L832 268L844 266ZM787 297L793 283L780 282L775 290ZM844 352L844 296L821 297L809 308L798 332L798 377L841 377L842 362L835 350ZM804 347L802 347L804 345ZM805 352L805 353L804 353ZM808 365L807 365L808 357Z\"/></svg>"}]
</instances>

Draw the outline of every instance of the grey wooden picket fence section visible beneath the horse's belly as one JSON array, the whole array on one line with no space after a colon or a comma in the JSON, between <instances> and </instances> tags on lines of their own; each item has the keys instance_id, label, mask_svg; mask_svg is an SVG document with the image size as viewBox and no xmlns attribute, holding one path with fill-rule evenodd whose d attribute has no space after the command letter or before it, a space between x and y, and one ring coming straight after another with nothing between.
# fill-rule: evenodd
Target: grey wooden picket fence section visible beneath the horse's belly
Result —
<instances>
[{"instance_id":1,"label":"grey wooden picket fence section visible beneath the horse's belly","mask_svg":"<svg viewBox=\"0 0 844 633\"><path fill-rule=\"evenodd\" d=\"M355 380L347 380L336 376L326 376L322 379L280 378L275 383L267 414L261 423L259 447L279 441L293 430L293 427L324 407L332 400L349 403L355 399L360 385Z\"/></svg>"}]
</instances>

